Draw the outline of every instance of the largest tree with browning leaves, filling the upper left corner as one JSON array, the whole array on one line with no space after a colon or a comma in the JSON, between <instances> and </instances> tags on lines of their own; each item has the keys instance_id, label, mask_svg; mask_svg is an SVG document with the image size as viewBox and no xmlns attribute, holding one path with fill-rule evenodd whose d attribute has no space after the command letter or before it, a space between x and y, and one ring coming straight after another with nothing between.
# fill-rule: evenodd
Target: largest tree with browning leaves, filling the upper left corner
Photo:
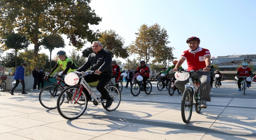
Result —
<instances>
[{"instance_id":1,"label":"largest tree with browning leaves, filling the upper left corner","mask_svg":"<svg viewBox=\"0 0 256 140\"><path fill-rule=\"evenodd\" d=\"M90 0L1 0L0 38L14 32L28 36L34 44L34 61L47 34L65 34L78 50L83 44L99 37L98 25L102 20L89 6Z\"/></svg>"}]
</instances>

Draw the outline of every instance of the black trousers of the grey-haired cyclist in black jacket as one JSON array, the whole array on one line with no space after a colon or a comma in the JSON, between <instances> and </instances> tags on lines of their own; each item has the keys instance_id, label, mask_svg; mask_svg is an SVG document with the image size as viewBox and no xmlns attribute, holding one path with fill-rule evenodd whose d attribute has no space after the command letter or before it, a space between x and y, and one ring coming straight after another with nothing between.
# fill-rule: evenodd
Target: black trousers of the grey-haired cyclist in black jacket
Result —
<instances>
[{"instance_id":1,"label":"black trousers of the grey-haired cyclist in black jacket","mask_svg":"<svg viewBox=\"0 0 256 140\"><path fill-rule=\"evenodd\" d=\"M108 84L111 78L112 78L111 75L98 75L98 74L88 74L84 76L84 80L88 83L96 82L99 80L99 83L96 88L100 92L104 100L110 98L108 91L104 87L106 86L106 84ZM89 94L87 90L85 90L85 92L86 92L86 95Z\"/></svg>"}]
</instances>

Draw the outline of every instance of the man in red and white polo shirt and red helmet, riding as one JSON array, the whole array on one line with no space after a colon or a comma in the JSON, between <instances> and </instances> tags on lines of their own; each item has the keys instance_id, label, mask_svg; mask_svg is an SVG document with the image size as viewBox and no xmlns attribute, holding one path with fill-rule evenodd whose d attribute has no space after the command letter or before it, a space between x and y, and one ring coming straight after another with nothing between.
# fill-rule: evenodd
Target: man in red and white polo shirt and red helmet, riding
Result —
<instances>
[{"instance_id":1,"label":"man in red and white polo shirt and red helmet, riding","mask_svg":"<svg viewBox=\"0 0 256 140\"><path fill-rule=\"evenodd\" d=\"M182 55L180 56L180 60L176 64L173 71L178 71L179 67L182 65L182 63L187 60L188 64L188 71L190 70L199 70L203 69L207 72L194 72L193 76L196 76L200 81L202 85L202 100L201 100L201 106L202 108L207 107L207 102L211 101L210 98L210 91L211 91L211 84L210 84L210 51L205 48L201 48L199 46L200 39L197 37L190 37L187 39L186 43L188 43L188 47L190 49L185 50ZM194 77L192 77L194 79ZM183 93L185 90L185 84L189 82L189 79L185 81L176 80L175 86Z\"/></svg>"}]
</instances>

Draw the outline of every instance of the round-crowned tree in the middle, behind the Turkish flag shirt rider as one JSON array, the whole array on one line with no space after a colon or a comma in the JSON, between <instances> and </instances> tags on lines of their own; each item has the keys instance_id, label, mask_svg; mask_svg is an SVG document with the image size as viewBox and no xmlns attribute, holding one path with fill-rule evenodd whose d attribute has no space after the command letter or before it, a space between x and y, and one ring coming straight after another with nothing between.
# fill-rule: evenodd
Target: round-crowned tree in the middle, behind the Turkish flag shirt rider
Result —
<instances>
[{"instance_id":1,"label":"round-crowned tree in the middle, behind the Turkish flag shirt rider","mask_svg":"<svg viewBox=\"0 0 256 140\"><path fill-rule=\"evenodd\" d=\"M166 48L166 45L170 43L168 41L167 31L164 28L160 28L157 23L152 26L147 26L143 24L140 26L139 32L135 33L137 35L136 40L132 41L132 44L128 46L128 51L130 54L138 54L137 60L142 60L144 58L145 62L148 63L150 59L156 60L163 51L170 51ZM170 51L172 55L172 51ZM171 58L168 57L171 61Z\"/></svg>"}]
</instances>

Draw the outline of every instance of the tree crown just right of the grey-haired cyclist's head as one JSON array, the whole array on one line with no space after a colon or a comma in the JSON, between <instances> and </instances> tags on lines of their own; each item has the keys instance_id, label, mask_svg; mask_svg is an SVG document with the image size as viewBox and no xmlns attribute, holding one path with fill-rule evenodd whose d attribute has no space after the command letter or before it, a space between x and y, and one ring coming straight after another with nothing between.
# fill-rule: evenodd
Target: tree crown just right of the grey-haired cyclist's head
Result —
<instances>
[{"instance_id":1,"label":"tree crown just right of the grey-haired cyclist's head","mask_svg":"<svg viewBox=\"0 0 256 140\"><path fill-rule=\"evenodd\" d=\"M124 38L116 34L116 31L106 30L101 32L100 35L99 41L105 50L112 52L116 58L128 57L127 47L124 47Z\"/></svg>"}]
</instances>

